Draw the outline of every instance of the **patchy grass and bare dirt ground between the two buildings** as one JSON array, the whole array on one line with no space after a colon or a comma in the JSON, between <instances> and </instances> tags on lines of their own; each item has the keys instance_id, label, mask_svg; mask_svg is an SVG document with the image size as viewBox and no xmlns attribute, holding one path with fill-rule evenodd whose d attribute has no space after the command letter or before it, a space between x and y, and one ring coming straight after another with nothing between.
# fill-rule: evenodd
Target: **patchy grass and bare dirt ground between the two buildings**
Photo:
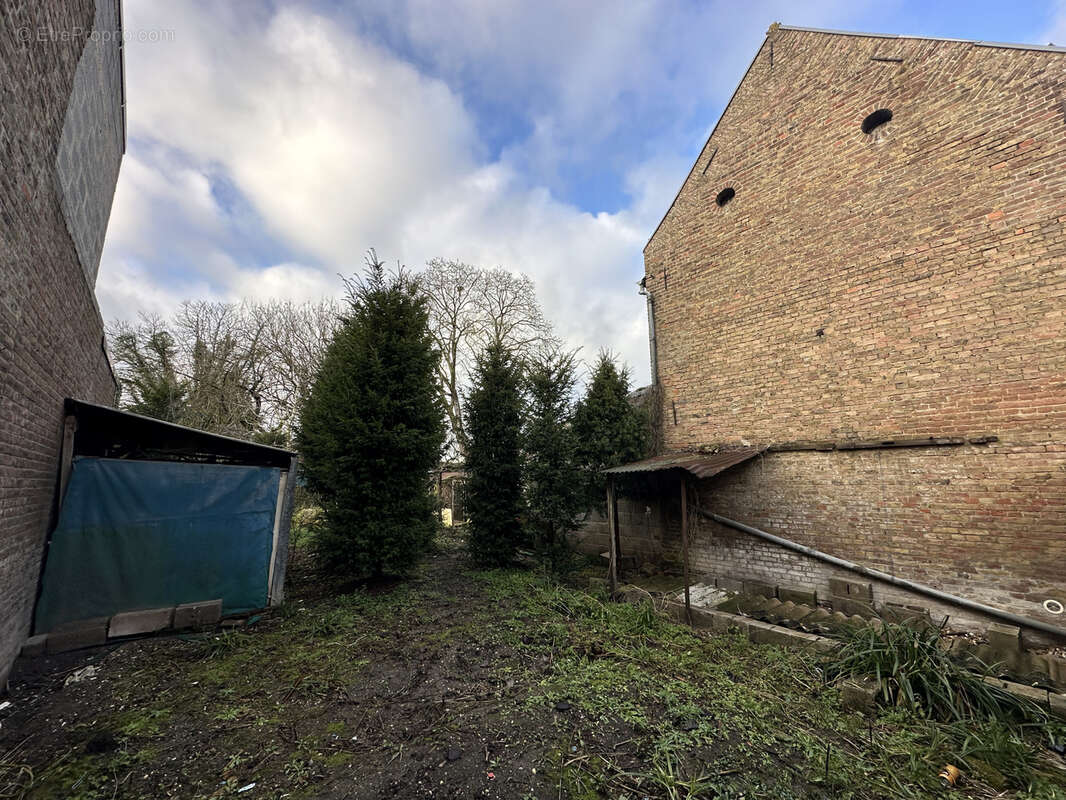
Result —
<instances>
[{"instance_id":1,"label":"patchy grass and bare dirt ground between the two buildings","mask_svg":"<svg viewBox=\"0 0 1066 800\"><path fill-rule=\"evenodd\" d=\"M455 541L406 581L338 587L300 559L292 577L246 626L19 662L0 798L947 791L950 737L844 713L807 656L536 571L477 571ZM1028 773L978 763L990 771L952 796L1066 797L1044 756L1033 794L1011 794Z\"/></svg>"}]
</instances>

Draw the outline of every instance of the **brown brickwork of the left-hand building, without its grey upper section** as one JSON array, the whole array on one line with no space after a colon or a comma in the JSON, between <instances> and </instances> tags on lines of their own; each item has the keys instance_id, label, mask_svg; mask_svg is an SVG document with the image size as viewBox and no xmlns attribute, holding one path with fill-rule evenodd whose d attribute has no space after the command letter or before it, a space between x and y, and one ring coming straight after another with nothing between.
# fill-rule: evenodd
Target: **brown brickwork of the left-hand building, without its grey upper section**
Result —
<instances>
[{"instance_id":1,"label":"brown brickwork of the left-hand building, without its grey upper section","mask_svg":"<svg viewBox=\"0 0 1066 800\"><path fill-rule=\"evenodd\" d=\"M63 398L110 404L115 396L86 277L96 266L86 270L79 260L56 170L84 39L36 41L37 31L49 27L92 31L94 7L33 0L0 10L0 686L29 633L55 489ZM30 31L30 42L23 31ZM112 124L120 98L111 100L108 119L88 114L80 121L81 139L95 141L94 131ZM93 159L86 169L106 171L113 191L122 155L113 137L85 153ZM106 213L102 223L96 220L106 222Z\"/></svg>"}]
</instances>

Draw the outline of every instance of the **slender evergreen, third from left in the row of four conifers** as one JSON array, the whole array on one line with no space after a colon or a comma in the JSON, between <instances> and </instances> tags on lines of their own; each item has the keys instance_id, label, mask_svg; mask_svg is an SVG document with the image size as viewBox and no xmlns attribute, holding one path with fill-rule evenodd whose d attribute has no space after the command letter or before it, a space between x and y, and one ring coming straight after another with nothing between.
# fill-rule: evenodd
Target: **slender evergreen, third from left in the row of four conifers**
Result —
<instances>
[{"instance_id":1,"label":"slender evergreen, third from left in the row of four conifers","mask_svg":"<svg viewBox=\"0 0 1066 800\"><path fill-rule=\"evenodd\" d=\"M533 543L559 571L566 559L566 534L582 510L571 394L575 353L535 356L526 375L529 407L522 430L526 449L526 503Z\"/></svg>"}]
</instances>

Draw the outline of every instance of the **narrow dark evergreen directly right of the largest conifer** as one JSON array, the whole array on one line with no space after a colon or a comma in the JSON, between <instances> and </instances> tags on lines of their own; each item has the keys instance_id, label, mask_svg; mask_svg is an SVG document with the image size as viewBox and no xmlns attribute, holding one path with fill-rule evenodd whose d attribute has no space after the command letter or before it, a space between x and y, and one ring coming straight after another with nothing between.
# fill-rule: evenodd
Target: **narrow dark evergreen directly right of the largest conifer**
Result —
<instances>
[{"instance_id":1,"label":"narrow dark evergreen directly right of the largest conifer","mask_svg":"<svg viewBox=\"0 0 1066 800\"><path fill-rule=\"evenodd\" d=\"M502 345L478 358L466 413L470 555L502 566L522 539L521 370Z\"/></svg>"}]
</instances>

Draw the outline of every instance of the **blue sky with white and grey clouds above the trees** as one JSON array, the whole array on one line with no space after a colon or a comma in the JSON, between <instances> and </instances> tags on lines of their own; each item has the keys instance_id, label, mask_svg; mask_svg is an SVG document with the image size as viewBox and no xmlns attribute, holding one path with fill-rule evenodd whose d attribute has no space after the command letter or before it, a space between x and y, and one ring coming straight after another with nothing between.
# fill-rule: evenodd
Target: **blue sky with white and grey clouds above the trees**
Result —
<instances>
[{"instance_id":1,"label":"blue sky with white and grey clouds above the trees","mask_svg":"<svg viewBox=\"0 0 1066 800\"><path fill-rule=\"evenodd\" d=\"M1066 2L126 0L103 315L339 291L368 247L531 275L647 381L641 251L766 28L1066 44ZM151 38L148 36L147 38Z\"/></svg>"}]
</instances>

